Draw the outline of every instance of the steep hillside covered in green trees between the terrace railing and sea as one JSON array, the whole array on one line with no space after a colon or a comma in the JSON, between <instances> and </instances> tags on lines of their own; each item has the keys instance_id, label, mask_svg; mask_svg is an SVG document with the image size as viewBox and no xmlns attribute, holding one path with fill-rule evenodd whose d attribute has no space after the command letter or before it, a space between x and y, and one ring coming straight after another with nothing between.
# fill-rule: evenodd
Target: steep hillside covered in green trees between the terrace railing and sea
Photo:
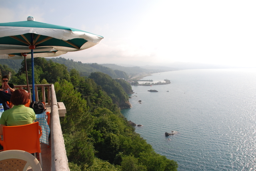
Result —
<instances>
[{"instance_id":1,"label":"steep hillside covered in green trees between the terrace railing and sea","mask_svg":"<svg viewBox=\"0 0 256 171\"><path fill-rule=\"evenodd\" d=\"M36 82L54 84L57 100L66 106L66 117L60 120L71 171L177 170L178 164L155 153L120 112L120 104L128 102L123 87L130 91L129 85L100 72L81 76L44 58L34 63ZM7 70L11 83L26 84L24 62L17 74L8 66L2 66L1 74ZM31 80L30 67L28 71Z\"/></svg>"}]
</instances>

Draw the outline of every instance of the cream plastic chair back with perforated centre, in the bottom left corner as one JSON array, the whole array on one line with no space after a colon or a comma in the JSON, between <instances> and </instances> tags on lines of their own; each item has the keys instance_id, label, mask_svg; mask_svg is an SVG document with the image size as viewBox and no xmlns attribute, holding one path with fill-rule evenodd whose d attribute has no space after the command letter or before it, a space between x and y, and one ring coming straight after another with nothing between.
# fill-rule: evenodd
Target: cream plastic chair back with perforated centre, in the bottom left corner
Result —
<instances>
[{"instance_id":1,"label":"cream plastic chair back with perforated centre, in the bottom left corner","mask_svg":"<svg viewBox=\"0 0 256 171\"><path fill-rule=\"evenodd\" d=\"M40 163L32 154L22 150L0 152L0 171L42 171Z\"/></svg>"}]
</instances>

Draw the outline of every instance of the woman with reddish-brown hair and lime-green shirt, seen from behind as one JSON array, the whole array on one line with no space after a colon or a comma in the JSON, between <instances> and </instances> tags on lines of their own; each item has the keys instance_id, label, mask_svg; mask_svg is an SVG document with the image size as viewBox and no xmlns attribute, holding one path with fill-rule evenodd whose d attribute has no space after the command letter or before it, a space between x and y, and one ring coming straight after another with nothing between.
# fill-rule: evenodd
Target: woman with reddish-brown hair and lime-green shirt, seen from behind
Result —
<instances>
[{"instance_id":1,"label":"woman with reddish-brown hair and lime-green shirt, seen from behind","mask_svg":"<svg viewBox=\"0 0 256 171\"><path fill-rule=\"evenodd\" d=\"M0 118L0 135L4 126L18 126L34 123L36 113L30 107L24 106L29 101L29 93L24 89L16 89L12 93L11 103L14 105L2 113Z\"/></svg>"}]
</instances>

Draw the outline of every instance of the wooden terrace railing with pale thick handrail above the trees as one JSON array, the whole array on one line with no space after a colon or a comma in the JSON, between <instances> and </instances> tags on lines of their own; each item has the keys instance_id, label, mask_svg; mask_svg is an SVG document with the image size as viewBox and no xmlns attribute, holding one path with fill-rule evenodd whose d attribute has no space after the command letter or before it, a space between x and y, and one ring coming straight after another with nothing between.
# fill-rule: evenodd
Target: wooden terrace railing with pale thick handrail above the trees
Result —
<instances>
[{"instance_id":1,"label":"wooden terrace railing with pale thick handrail above the trees","mask_svg":"<svg viewBox=\"0 0 256 171\"><path fill-rule=\"evenodd\" d=\"M29 85L30 89L32 85ZM27 90L27 85L14 85L14 89L23 88ZM28 90L30 92L30 90ZM60 126L60 116L53 84L35 85L36 101L43 101L51 107L51 170L70 171L68 168L68 158L64 145L64 139ZM31 99L30 99L31 100Z\"/></svg>"}]
</instances>

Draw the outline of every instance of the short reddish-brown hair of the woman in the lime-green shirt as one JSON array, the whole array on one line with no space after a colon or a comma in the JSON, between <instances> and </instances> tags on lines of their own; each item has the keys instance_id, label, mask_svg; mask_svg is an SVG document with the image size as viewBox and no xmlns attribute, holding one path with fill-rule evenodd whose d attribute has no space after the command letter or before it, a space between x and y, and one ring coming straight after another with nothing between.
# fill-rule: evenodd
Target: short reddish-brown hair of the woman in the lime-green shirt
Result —
<instances>
[{"instance_id":1,"label":"short reddish-brown hair of the woman in the lime-green shirt","mask_svg":"<svg viewBox=\"0 0 256 171\"><path fill-rule=\"evenodd\" d=\"M24 89L16 89L12 93L11 103L14 105L25 105L28 103L29 95Z\"/></svg>"}]
</instances>

